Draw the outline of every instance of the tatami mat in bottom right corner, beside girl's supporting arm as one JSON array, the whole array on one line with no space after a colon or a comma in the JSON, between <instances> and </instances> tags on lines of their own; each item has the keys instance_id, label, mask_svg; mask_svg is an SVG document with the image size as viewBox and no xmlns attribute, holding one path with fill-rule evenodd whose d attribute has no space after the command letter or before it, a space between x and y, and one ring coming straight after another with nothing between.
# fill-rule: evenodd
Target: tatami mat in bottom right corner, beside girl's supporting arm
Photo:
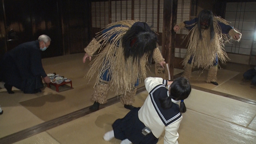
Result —
<instances>
[{"instance_id":1,"label":"tatami mat in bottom right corner, beside girl's supporting arm","mask_svg":"<svg viewBox=\"0 0 256 144\"><path fill-rule=\"evenodd\" d=\"M190 109L183 114L178 133L180 144L255 144L256 141L255 130Z\"/></svg>"}]
</instances>

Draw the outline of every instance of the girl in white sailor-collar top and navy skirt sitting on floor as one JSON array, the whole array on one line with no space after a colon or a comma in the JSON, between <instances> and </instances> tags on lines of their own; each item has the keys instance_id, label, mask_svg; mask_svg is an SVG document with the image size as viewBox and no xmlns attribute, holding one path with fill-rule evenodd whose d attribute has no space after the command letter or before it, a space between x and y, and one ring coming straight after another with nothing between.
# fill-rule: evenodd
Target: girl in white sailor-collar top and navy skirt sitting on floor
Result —
<instances>
[{"instance_id":1,"label":"girl in white sailor-collar top and navy skirt sitting on floor","mask_svg":"<svg viewBox=\"0 0 256 144\"><path fill-rule=\"evenodd\" d=\"M178 144L181 113L186 111L183 100L191 92L188 80L179 77L172 82L147 77L145 87L148 96L142 107L134 108L124 118L117 119L112 125L113 130L105 133L104 140L115 137L122 140L121 144L156 144L165 130L164 144Z\"/></svg>"}]
</instances>

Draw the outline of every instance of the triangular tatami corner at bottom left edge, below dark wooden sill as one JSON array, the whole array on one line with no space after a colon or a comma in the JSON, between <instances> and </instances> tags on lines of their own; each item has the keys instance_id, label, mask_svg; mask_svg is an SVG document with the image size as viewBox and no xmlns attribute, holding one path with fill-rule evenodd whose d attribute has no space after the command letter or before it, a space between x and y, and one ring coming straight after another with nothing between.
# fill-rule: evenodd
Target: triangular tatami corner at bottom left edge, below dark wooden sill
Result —
<instances>
[{"instance_id":1,"label":"triangular tatami corner at bottom left edge, below dark wooden sill","mask_svg":"<svg viewBox=\"0 0 256 144\"><path fill-rule=\"evenodd\" d=\"M31 136L27 139L18 141L14 144L60 144L58 141L53 139L48 133L42 132Z\"/></svg>"}]
</instances>

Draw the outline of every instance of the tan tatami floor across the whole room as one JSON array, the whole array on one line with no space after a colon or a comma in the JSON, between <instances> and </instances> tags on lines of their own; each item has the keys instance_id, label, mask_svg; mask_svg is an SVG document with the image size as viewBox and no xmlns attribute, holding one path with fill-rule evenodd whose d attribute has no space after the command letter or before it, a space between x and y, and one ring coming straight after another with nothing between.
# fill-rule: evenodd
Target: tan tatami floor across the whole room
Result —
<instances>
[{"instance_id":1,"label":"tan tatami floor across the whole room","mask_svg":"<svg viewBox=\"0 0 256 144\"><path fill-rule=\"evenodd\" d=\"M15 90L15 94L10 95L4 88L0 89L0 105L4 110L4 114L0 115L1 144L120 143L116 139L105 142L102 137L111 129L114 120L123 117L128 110L121 105L117 94L109 91L108 103L101 105L101 110L90 113L88 107L93 104L90 94L94 80L88 82L83 78L89 63L83 64L82 57L83 54L72 54L42 61L46 73L56 72L71 79L72 90L66 90L67 87L63 89L66 91L58 93L54 88L45 88L40 94L23 94ZM154 76L154 67L150 70L152 73L148 72L148 76ZM243 71L223 70L225 72L218 72L218 87L205 83L205 74L192 73L193 90L185 101L188 111L179 129L179 143L255 143L256 103L253 98L256 97L256 90L240 86ZM176 76L180 76L180 72L182 70L174 71ZM234 83L233 87L226 90L225 85L229 82ZM147 96L143 81L139 87L135 106L141 106ZM249 96L234 94L232 88L236 91L249 90ZM163 135L159 143L163 143Z\"/></svg>"}]
</instances>

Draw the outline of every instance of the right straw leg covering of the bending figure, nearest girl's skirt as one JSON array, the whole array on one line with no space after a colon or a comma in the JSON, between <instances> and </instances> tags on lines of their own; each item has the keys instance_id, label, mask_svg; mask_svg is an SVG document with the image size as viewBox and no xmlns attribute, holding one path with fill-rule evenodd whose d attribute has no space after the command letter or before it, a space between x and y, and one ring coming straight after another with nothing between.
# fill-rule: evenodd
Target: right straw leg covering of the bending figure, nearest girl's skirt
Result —
<instances>
[{"instance_id":1,"label":"right straw leg covering of the bending figure, nearest girl's skirt","mask_svg":"<svg viewBox=\"0 0 256 144\"><path fill-rule=\"evenodd\" d=\"M134 88L131 91L126 92L126 94L122 94L120 101L123 105L132 105L135 102L135 95L137 92L137 88Z\"/></svg>"}]
</instances>

